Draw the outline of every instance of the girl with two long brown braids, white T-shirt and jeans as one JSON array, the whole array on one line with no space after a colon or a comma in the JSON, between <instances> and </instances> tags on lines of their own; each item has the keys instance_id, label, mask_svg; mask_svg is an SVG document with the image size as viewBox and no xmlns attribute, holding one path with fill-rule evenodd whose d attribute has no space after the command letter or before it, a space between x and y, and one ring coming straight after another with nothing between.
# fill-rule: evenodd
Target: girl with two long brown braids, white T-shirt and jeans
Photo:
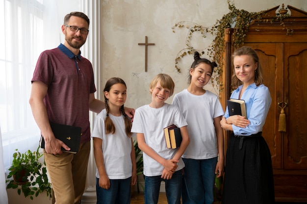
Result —
<instances>
[{"instance_id":1,"label":"girl with two long brown braids, white T-shirt and jeans","mask_svg":"<svg viewBox=\"0 0 307 204\"><path fill-rule=\"evenodd\" d=\"M121 78L113 77L103 91L105 109L96 116L92 133L97 204L130 204L136 161L132 125L124 111L127 86Z\"/></svg>"}]
</instances>

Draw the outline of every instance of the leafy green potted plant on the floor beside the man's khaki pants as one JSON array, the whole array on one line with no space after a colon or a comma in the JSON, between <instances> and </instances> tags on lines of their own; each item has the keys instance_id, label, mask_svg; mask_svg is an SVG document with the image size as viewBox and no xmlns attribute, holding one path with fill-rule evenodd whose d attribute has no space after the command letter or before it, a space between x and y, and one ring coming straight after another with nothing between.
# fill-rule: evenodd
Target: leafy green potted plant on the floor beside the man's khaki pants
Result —
<instances>
[{"instance_id":1,"label":"leafy green potted plant on the floor beside the man's khaki pants","mask_svg":"<svg viewBox=\"0 0 307 204\"><path fill-rule=\"evenodd\" d=\"M51 199L51 183L48 180L46 164L45 161L44 163L39 161L43 154L40 154L38 150L39 147L34 152L27 150L25 153L20 153L18 149L15 150L12 165L8 169L10 172L7 176L9 180L6 180L6 188L15 189L20 186L17 190L18 194L23 192L25 197L30 196L31 200L34 195L37 197L46 191Z\"/></svg>"}]
</instances>

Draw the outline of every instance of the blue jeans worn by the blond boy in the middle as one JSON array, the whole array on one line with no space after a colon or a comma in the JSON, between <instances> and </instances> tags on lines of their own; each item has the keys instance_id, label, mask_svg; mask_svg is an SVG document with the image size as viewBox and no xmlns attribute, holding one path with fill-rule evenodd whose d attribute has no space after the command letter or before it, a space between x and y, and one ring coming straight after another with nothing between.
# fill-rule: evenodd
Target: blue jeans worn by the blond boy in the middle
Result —
<instances>
[{"instance_id":1,"label":"blue jeans worn by the blond boy in the middle","mask_svg":"<svg viewBox=\"0 0 307 204\"><path fill-rule=\"evenodd\" d=\"M160 192L161 181L165 182L165 192L168 204L180 204L181 188L182 188L182 172L176 171L172 179L161 179L160 176L145 176L145 204L157 204Z\"/></svg>"}]
</instances>

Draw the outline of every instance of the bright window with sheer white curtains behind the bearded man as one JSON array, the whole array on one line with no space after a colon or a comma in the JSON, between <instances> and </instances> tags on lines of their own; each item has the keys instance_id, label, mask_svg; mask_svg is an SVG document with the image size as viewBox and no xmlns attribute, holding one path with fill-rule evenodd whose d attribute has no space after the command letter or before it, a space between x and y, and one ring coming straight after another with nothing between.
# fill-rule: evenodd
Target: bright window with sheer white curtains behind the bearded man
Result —
<instances>
[{"instance_id":1,"label":"bright window with sheer white curtains behind the bearded man","mask_svg":"<svg viewBox=\"0 0 307 204\"><path fill-rule=\"evenodd\" d=\"M56 16L53 0L0 0L0 127L5 169L15 149L25 152L39 145L40 130L28 100L40 53L60 43Z\"/></svg>"}]
</instances>

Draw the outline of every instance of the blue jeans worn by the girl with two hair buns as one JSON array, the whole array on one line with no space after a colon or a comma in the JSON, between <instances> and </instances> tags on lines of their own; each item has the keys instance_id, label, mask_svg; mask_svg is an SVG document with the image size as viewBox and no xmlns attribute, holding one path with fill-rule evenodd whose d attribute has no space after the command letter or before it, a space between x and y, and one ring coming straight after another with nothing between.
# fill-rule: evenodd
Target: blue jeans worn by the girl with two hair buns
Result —
<instances>
[{"instance_id":1,"label":"blue jeans worn by the girl with two hair buns","mask_svg":"<svg viewBox=\"0 0 307 204\"><path fill-rule=\"evenodd\" d=\"M212 204L214 201L215 167L212 159L184 159L182 204Z\"/></svg>"}]
</instances>

